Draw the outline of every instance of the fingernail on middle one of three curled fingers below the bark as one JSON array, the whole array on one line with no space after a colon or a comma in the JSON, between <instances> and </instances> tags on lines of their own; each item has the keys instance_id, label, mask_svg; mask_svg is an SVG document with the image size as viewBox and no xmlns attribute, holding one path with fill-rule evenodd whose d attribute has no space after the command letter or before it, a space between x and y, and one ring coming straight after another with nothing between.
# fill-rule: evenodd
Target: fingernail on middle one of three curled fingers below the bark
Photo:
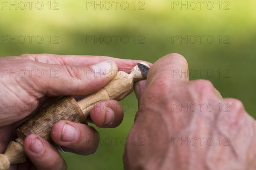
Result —
<instances>
[{"instance_id":1,"label":"fingernail on middle one of three curled fingers below the bark","mask_svg":"<svg viewBox=\"0 0 256 170\"><path fill-rule=\"evenodd\" d=\"M78 132L76 128L65 123L65 125L62 128L61 141L72 142L76 140L77 136L78 136Z\"/></svg>"}]
</instances>

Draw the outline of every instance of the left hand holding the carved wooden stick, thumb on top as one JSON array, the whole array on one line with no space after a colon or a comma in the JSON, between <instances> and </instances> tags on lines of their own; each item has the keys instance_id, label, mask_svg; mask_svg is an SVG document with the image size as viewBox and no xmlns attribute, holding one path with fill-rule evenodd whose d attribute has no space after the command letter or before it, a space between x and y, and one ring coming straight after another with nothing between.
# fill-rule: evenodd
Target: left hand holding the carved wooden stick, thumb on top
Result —
<instances>
[{"instance_id":1,"label":"left hand holding the carved wooden stick, thumb on top","mask_svg":"<svg viewBox=\"0 0 256 170\"><path fill-rule=\"evenodd\" d=\"M104 61L106 59L109 61ZM4 152L10 140L16 139L15 127L28 117L61 96L81 97L98 91L116 75L117 66L119 70L129 72L136 62L141 61L53 54L0 58L0 152ZM104 75L110 71L111 76ZM106 106L110 109L105 109ZM116 100L101 102L95 108L87 120L98 127L116 127L122 122L122 107ZM65 151L81 155L94 153L99 139L99 133L93 127L64 120L52 127L51 136ZM66 169L67 165L55 147L43 139L37 144L38 138L35 134L27 136L23 148L29 160L12 165L11 169L16 166L17 169ZM93 141L88 142L89 138Z\"/></svg>"}]
</instances>

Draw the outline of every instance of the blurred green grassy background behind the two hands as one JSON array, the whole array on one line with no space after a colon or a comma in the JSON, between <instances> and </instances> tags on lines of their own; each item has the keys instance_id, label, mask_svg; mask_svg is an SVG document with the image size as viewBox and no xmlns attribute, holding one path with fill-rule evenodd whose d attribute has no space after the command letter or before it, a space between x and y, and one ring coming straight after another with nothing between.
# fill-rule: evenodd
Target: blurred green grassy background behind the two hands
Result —
<instances>
[{"instance_id":1,"label":"blurred green grassy background behind the two hands","mask_svg":"<svg viewBox=\"0 0 256 170\"><path fill-rule=\"evenodd\" d=\"M15 2L17 9L1 0L1 57L26 53L102 55L153 63L166 54L179 53L193 71L191 80L209 79L223 97L240 99L246 111L256 118L254 0L213 0L202 4L127 0L117 1L116 6L113 1L42 0L32 1L31 9L27 1L23 1L26 8L20 1L11 1ZM29 35L33 36L31 42ZM9 41L9 36L17 43ZM102 36L102 42L94 36ZM201 75L198 69L204 69ZM119 127L96 127L101 140L95 154L63 154L69 169L122 169L125 137L134 122L137 100L131 94L121 103L125 117Z\"/></svg>"}]
</instances>

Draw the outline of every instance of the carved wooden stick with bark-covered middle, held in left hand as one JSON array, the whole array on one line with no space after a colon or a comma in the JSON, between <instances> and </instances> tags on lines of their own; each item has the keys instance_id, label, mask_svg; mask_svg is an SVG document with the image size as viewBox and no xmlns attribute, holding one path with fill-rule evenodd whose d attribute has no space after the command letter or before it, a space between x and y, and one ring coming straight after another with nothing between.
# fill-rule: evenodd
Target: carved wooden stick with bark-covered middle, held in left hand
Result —
<instances>
[{"instance_id":1,"label":"carved wooden stick with bark-covered middle, held in left hand","mask_svg":"<svg viewBox=\"0 0 256 170\"><path fill-rule=\"evenodd\" d=\"M148 66L146 63L142 63ZM149 67L149 66L148 66ZM134 82L143 80L142 73L136 65L131 69L131 74L124 71L117 72L116 76L104 88L81 99L79 102L73 96L64 96L58 102L45 108L41 113L33 116L19 127L17 127L17 138L11 141L4 154L0 154L0 170L9 170L10 164L17 164L26 161L26 154L23 151L23 142L30 133L37 134L48 142L51 139L52 126L60 120L86 123L86 117L91 109L104 100L122 100L133 91Z\"/></svg>"}]
</instances>

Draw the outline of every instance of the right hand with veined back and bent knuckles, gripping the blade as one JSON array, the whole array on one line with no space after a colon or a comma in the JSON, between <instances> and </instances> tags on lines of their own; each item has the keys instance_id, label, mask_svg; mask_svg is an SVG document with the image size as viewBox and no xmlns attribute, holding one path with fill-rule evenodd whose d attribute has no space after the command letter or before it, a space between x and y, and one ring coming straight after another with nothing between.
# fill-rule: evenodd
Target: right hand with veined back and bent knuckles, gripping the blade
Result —
<instances>
[{"instance_id":1,"label":"right hand with veined back and bent knuckles, gripping the blade","mask_svg":"<svg viewBox=\"0 0 256 170\"><path fill-rule=\"evenodd\" d=\"M239 100L222 99L207 80L188 81L185 71L186 59L169 54L135 85L141 107L128 141L143 143L126 145L125 169L256 169L255 120Z\"/></svg>"}]
</instances>

